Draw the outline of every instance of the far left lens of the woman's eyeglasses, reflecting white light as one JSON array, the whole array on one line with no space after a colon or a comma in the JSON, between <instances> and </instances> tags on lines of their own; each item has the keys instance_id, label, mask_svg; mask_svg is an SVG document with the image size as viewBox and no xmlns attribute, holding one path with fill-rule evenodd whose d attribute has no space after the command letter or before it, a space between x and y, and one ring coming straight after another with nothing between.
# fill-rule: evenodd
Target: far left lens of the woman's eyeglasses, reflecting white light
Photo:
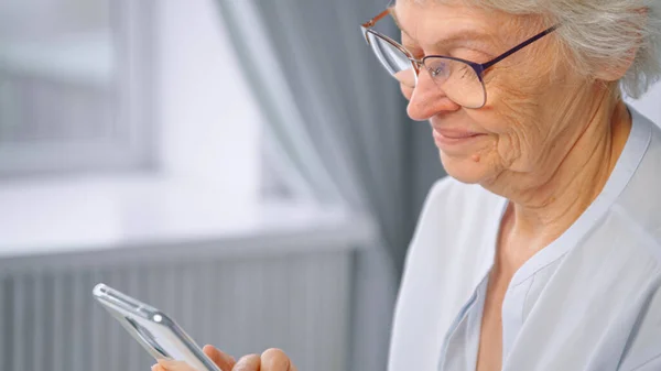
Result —
<instances>
[{"instance_id":1,"label":"far left lens of the woman's eyeglasses, reflecting white light","mask_svg":"<svg viewBox=\"0 0 661 371\"><path fill-rule=\"evenodd\" d=\"M372 51L392 77L408 87L415 87L418 75L409 56L392 43L371 32L367 32L367 39Z\"/></svg>"}]
</instances>

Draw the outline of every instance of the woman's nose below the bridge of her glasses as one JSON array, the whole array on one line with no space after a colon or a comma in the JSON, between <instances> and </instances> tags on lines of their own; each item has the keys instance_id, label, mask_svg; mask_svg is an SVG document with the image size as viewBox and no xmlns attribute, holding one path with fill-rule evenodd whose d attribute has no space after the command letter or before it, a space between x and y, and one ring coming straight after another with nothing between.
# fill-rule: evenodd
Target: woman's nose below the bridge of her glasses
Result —
<instances>
[{"instance_id":1,"label":"woman's nose below the bridge of her glasses","mask_svg":"<svg viewBox=\"0 0 661 371\"><path fill-rule=\"evenodd\" d=\"M425 121L430 118L446 112L457 111L462 106L452 101L445 91L434 81L431 74L424 68L420 69L418 84L411 92L407 113L414 121Z\"/></svg>"}]
</instances>

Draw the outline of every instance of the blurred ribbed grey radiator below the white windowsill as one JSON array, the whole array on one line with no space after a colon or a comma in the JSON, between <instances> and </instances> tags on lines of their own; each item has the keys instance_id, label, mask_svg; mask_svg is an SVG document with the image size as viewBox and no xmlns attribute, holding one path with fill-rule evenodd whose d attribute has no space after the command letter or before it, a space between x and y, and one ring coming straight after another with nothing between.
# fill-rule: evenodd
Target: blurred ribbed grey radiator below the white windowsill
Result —
<instances>
[{"instance_id":1,"label":"blurred ribbed grey radiator below the white windowsill","mask_svg":"<svg viewBox=\"0 0 661 371\"><path fill-rule=\"evenodd\" d=\"M0 370L149 371L93 298L98 282L164 310L201 346L235 357L278 347L300 370L347 370L350 262L350 251L314 251L0 275Z\"/></svg>"}]
</instances>

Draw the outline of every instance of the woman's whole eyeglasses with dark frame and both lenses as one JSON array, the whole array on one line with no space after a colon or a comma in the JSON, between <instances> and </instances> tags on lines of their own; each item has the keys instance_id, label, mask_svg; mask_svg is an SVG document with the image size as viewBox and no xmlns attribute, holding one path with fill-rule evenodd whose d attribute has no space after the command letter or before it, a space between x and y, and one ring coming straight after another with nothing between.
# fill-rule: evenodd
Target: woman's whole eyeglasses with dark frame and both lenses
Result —
<instances>
[{"instance_id":1,"label":"woman's whole eyeglasses with dark frame and both lenses","mask_svg":"<svg viewBox=\"0 0 661 371\"><path fill-rule=\"evenodd\" d=\"M365 40L383 67L398 81L410 88L415 87L420 70L425 69L447 98L472 109L483 108L487 103L485 72L560 26L560 24L554 25L483 64L443 55L427 55L416 59L400 43L372 30L378 21L390 14L390 11L387 9L360 26Z\"/></svg>"}]
</instances>

